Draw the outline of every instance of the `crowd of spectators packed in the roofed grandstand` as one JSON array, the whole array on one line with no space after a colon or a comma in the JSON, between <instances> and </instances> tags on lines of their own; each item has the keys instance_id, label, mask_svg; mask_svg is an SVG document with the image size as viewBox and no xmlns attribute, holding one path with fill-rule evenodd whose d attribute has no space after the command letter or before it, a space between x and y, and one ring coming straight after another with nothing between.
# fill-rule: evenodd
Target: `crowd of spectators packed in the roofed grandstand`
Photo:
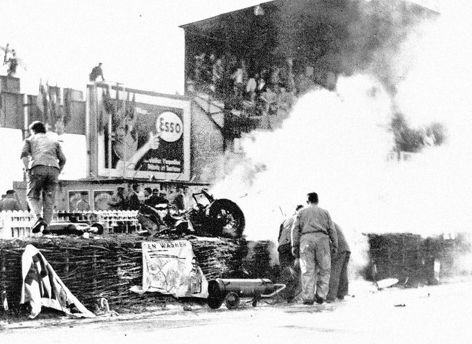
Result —
<instances>
[{"instance_id":1,"label":"crowd of spectators packed in the roofed grandstand","mask_svg":"<svg viewBox=\"0 0 472 344\"><path fill-rule=\"evenodd\" d=\"M296 99L311 89L336 88L332 71L316 71L306 64L296 73L291 58L261 69L248 64L229 53L195 55L189 90L208 92L229 109L248 111L252 116L273 116L278 109L289 111Z\"/></svg>"}]
</instances>

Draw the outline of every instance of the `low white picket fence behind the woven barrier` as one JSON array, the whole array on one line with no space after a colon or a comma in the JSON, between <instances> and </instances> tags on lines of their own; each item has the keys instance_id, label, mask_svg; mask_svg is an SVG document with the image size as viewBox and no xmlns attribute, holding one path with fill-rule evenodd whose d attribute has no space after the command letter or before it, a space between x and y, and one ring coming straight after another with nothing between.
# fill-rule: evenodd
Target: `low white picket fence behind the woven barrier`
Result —
<instances>
[{"instance_id":1,"label":"low white picket fence behind the woven barrier","mask_svg":"<svg viewBox=\"0 0 472 344\"><path fill-rule=\"evenodd\" d=\"M59 211L53 214L51 223L82 222L89 225L98 223L102 224L105 234L136 233L141 229L137 215L138 210ZM35 216L30 212L2 211L0 212L0 239L30 237L34 224Z\"/></svg>"}]
</instances>

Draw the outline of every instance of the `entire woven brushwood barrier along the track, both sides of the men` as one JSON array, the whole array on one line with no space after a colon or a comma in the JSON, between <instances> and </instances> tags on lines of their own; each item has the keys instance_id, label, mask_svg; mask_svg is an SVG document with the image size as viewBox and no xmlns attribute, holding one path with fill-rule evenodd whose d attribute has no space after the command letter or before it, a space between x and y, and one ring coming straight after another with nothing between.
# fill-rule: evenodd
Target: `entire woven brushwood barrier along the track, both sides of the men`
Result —
<instances>
[{"instance_id":1,"label":"entire woven brushwood barrier along the track, both sides of the men","mask_svg":"<svg viewBox=\"0 0 472 344\"><path fill-rule=\"evenodd\" d=\"M471 254L470 235L423 238L410 233L368 234L370 266L367 279L399 278L400 282L433 283L434 262L441 264L441 278L464 273L458 257ZM53 266L71 292L93 309L98 298L111 307L146 306L172 300L160 293L131 293L142 284L141 242L188 239L208 280L215 278L277 278L274 269L275 244L206 237L140 237L132 234L81 237L31 237L0 240L0 292L6 290L8 305L19 307L21 255L33 244ZM373 266L376 272L373 273ZM465 273L472 273L469 271Z\"/></svg>"}]
</instances>

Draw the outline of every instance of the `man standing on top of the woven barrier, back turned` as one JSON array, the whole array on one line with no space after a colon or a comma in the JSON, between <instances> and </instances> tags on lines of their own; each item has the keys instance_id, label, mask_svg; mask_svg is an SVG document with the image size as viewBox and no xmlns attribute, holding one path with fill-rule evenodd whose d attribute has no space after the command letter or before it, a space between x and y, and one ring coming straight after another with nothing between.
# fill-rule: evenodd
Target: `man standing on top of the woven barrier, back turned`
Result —
<instances>
[{"instance_id":1,"label":"man standing on top of the woven barrier, back turned","mask_svg":"<svg viewBox=\"0 0 472 344\"><path fill-rule=\"evenodd\" d=\"M26 196L37 217L33 233L38 233L51 224L55 190L66 157L59 143L46 136L44 123L37 120L30 124L29 129L30 136L24 141L21 161L28 175Z\"/></svg>"}]
</instances>

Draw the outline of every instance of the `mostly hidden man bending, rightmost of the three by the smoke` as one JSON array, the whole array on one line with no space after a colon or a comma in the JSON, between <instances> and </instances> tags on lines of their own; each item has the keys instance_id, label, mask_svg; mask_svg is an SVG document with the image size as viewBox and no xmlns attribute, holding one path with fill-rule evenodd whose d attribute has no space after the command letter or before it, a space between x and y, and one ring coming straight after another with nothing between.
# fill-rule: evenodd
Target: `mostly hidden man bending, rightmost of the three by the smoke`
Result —
<instances>
[{"instance_id":1,"label":"mostly hidden man bending, rightmost of the three by the smoke","mask_svg":"<svg viewBox=\"0 0 472 344\"><path fill-rule=\"evenodd\" d=\"M338 298L343 300L348 292L347 263L351 256L349 244L338 224L334 224L338 235L338 254L331 257L331 276L329 277L329 291L327 302L333 302Z\"/></svg>"}]
</instances>

